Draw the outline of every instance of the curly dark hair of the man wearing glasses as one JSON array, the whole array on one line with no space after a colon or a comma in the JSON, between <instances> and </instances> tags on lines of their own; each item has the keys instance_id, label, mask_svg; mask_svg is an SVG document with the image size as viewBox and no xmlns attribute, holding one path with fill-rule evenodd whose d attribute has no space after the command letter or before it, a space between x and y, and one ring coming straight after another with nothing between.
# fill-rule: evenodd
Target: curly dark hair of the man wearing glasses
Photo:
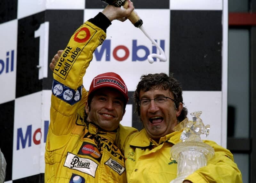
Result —
<instances>
[{"instance_id":1,"label":"curly dark hair of the man wearing glasses","mask_svg":"<svg viewBox=\"0 0 256 183\"><path fill-rule=\"evenodd\" d=\"M178 80L173 78L173 75L170 74L168 76L165 73L156 73L156 74L148 74L148 75L142 75L140 77L140 81L137 85L137 88L133 94L133 99L135 102L135 112L140 116L140 106L139 106L139 100L140 100L140 91L148 91L151 88L163 88L165 90L169 89L170 92L173 93L174 96L174 103L176 109L179 108L180 102L183 103L182 98L182 88L181 84ZM180 113L180 116L177 117L178 121L183 121L188 114L188 110L186 107L183 106L183 109Z\"/></svg>"}]
</instances>

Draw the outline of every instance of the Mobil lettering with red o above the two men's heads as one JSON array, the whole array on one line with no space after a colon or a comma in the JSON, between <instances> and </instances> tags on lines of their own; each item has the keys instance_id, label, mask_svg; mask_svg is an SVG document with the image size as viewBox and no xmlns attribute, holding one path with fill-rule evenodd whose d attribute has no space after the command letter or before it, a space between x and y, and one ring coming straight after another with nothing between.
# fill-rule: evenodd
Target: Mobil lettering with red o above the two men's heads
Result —
<instances>
[{"instance_id":1,"label":"Mobil lettering with red o above the two men's heads","mask_svg":"<svg viewBox=\"0 0 256 183\"><path fill-rule=\"evenodd\" d=\"M155 41L157 42L157 40ZM160 40L157 43L164 51L165 40ZM117 54L118 51L122 51L124 52L124 54L120 56ZM147 60L148 55L151 53L157 53L156 46L152 45L152 47L150 46L149 48L146 45L138 44L138 40L132 40L132 49L129 49L126 45L117 45L114 46L113 50L111 50L111 40L106 39L101 47L98 47L94 51L94 57L96 58L96 61L101 61L102 59L104 59L103 56L105 56L106 61L113 60L113 58L117 61L125 61L131 54L132 62L136 62ZM154 58L154 61L156 61L156 58Z\"/></svg>"}]
</instances>

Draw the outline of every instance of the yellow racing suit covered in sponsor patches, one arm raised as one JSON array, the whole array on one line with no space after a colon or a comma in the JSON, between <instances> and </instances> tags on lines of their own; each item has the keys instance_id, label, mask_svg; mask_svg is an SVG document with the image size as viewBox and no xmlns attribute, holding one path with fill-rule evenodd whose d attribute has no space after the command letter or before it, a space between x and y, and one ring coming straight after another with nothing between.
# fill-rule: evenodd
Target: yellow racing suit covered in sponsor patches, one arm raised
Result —
<instances>
[{"instance_id":1,"label":"yellow racing suit covered in sponsor patches, one arm raised","mask_svg":"<svg viewBox=\"0 0 256 183\"><path fill-rule=\"evenodd\" d=\"M106 17L99 13L94 20L97 18L101 22ZM47 183L127 182L124 156L114 141L120 129L125 129L124 137L135 129L120 125L107 132L84 118L88 93L82 79L93 51L105 38L105 31L86 21L72 35L55 66L45 147Z\"/></svg>"}]
</instances>

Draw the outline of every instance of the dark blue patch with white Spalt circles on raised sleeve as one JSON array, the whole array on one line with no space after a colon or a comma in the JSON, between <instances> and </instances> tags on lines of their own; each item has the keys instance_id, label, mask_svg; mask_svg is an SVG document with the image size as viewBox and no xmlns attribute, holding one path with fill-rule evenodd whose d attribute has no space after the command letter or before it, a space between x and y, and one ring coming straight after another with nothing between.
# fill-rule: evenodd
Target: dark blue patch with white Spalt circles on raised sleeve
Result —
<instances>
[{"instance_id":1,"label":"dark blue patch with white Spalt circles on raised sleeve","mask_svg":"<svg viewBox=\"0 0 256 183\"><path fill-rule=\"evenodd\" d=\"M73 105L81 100L82 98L82 86L80 86L76 91L61 84L60 82L53 80L52 84L52 94L61 100Z\"/></svg>"}]
</instances>

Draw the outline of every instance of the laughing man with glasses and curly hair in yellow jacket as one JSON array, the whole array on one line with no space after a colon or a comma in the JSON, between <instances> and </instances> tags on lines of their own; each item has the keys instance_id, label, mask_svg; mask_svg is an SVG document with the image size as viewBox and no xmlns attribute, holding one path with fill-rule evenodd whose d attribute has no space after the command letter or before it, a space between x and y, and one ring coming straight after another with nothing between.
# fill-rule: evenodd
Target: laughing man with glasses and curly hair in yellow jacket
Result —
<instances>
[{"instance_id":1,"label":"laughing man with glasses and curly hair in yellow jacket","mask_svg":"<svg viewBox=\"0 0 256 183\"><path fill-rule=\"evenodd\" d=\"M177 162L170 150L180 141L182 132L174 132L173 128L187 118L180 83L165 73L142 75L133 98L144 128L125 140L116 139L126 159L127 180L170 183L177 177ZM122 137L122 133L118 135ZM230 151L213 141L204 142L212 146L214 157L183 183L241 183L241 172Z\"/></svg>"}]
</instances>

